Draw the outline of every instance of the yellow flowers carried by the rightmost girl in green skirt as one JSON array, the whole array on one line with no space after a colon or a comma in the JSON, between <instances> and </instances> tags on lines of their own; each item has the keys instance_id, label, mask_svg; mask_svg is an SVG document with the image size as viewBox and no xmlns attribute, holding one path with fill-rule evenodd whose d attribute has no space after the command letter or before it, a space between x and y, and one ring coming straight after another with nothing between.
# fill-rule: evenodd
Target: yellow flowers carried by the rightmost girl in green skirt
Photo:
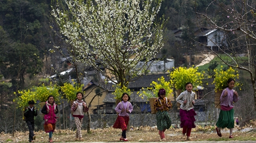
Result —
<instances>
[{"instance_id":1,"label":"yellow flowers carried by the rightmost girl in green skirt","mask_svg":"<svg viewBox=\"0 0 256 143\"><path fill-rule=\"evenodd\" d=\"M223 90L224 88L228 87L228 79L232 78L234 80L239 79L238 71L231 67L229 67L227 70L223 71L223 66L221 66L221 69L214 69L214 81L212 82L212 85L215 84L215 90ZM239 82L235 82L235 86L239 86ZM240 88L241 90L241 88Z\"/></svg>"}]
</instances>

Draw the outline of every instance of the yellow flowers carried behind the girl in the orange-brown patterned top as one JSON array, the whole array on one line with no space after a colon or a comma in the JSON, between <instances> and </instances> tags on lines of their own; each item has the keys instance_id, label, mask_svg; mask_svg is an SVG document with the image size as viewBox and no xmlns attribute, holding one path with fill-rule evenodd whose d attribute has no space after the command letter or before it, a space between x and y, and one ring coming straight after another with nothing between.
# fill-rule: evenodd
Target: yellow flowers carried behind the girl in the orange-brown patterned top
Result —
<instances>
[{"instance_id":1,"label":"yellow flowers carried behind the girl in the orange-brown patterned top","mask_svg":"<svg viewBox=\"0 0 256 143\"><path fill-rule=\"evenodd\" d=\"M142 99L144 96L147 96L147 98L150 99L153 97L158 97L158 92L161 88L166 90L166 95L170 95L173 92L173 90L170 88L170 81L165 81L163 76L157 79L157 82L152 81L150 86L152 87L142 88L141 92L137 92L137 94L139 94Z\"/></svg>"}]
</instances>

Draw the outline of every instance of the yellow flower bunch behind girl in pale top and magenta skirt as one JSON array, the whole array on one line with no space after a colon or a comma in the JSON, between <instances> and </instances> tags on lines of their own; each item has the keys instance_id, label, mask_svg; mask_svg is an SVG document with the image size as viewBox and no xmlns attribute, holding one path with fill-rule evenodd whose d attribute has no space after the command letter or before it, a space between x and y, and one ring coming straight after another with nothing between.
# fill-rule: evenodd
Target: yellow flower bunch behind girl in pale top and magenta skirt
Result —
<instances>
[{"instance_id":1,"label":"yellow flower bunch behind girl in pale top and magenta skirt","mask_svg":"<svg viewBox=\"0 0 256 143\"><path fill-rule=\"evenodd\" d=\"M169 74L171 84L174 85L176 89L182 90L186 89L185 84L187 82L191 82L193 84L193 87L202 85L204 75L197 72L197 69L198 68L194 67L179 67L174 69L174 71Z\"/></svg>"}]
</instances>

